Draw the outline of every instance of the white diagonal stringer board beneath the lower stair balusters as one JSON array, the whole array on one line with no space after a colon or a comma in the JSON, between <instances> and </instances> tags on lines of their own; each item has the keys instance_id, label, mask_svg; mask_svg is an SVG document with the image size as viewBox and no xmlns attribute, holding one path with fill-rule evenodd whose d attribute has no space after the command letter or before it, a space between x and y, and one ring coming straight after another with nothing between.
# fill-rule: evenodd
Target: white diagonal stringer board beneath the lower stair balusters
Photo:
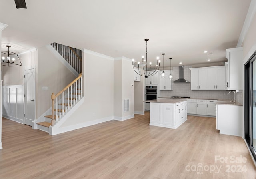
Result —
<instances>
[{"instance_id":1,"label":"white diagonal stringer board beneath the lower stair balusters","mask_svg":"<svg viewBox=\"0 0 256 179\"><path fill-rule=\"evenodd\" d=\"M67 131L61 131L60 126L69 119L69 117L84 103L84 97L82 97L59 121L49 127L49 135L56 135Z\"/></svg>"}]
</instances>

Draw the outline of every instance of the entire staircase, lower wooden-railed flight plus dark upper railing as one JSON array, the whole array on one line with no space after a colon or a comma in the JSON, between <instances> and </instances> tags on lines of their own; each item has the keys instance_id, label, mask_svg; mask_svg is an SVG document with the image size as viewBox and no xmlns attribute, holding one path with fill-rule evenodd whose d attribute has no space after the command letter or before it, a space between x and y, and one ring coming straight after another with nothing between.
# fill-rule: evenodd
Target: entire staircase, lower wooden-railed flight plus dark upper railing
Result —
<instances>
[{"instance_id":1,"label":"entire staircase, lower wooden-railed flight plus dark upper railing","mask_svg":"<svg viewBox=\"0 0 256 179\"><path fill-rule=\"evenodd\" d=\"M50 131L52 132L54 129L54 125L58 123L58 121L60 121L80 101L80 99L82 99L82 51L55 42L50 45L64 58L62 58L62 60L68 62L70 65L67 64L69 66L68 68L72 71L75 70L79 75L56 95L52 93L51 110L49 109L46 111L47 115L44 116L44 119L43 117L40 117L40 119L34 121L34 123L36 123L34 127L35 129L40 129L49 134ZM73 111L74 110L75 108Z\"/></svg>"}]
</instances>

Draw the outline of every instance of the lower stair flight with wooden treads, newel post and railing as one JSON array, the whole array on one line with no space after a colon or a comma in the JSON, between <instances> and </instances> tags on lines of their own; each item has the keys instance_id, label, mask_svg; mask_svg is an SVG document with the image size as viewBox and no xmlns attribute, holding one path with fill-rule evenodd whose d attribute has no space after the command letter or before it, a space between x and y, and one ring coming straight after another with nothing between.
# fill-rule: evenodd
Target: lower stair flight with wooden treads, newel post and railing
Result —
<instances>
[{"instance_id":1,"label":"lower stair flight with wooden treads, newel post and railing","mask_svg":"<svg viewBox=\"0 0 256 179\"><path fill-rule=\"evenodd\" d=\"M37 129L45 132L49 132L49 127L54 127L82 99L82 73L56 95L52 93L51 99L52 114L44 116L45 121L36 123Z\"/></svg>"}]
</instances>

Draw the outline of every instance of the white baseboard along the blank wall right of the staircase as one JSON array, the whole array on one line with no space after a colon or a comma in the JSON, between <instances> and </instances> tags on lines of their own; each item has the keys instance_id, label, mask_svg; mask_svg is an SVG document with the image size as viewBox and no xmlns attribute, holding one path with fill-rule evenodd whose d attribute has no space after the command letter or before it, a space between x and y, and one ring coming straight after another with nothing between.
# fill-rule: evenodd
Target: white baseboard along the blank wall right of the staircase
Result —
<instances>
[{"instance_id":1,"label":"white baseboard along the blank wall right of the staircase","mask_svg":"<svg viewBox=\"0 0 256 179\"><path fill-rule=\"evenodd\" d=\"M86 121L86 122L78 123L78 124L71 125L71 126L59 127L58 129L54 129L53 131L51 131L52 129L51 129L51 126L50 126L49 134L50 135L57 135L57 134L60 134L60 133L73 131L73 130L80 129L80 128L83 128L83 127L88 127L88 126L91 126L91 125L96 125L96 124L99 124L99 123L112 121L112 120L113 120L113 117L111 116L111 117L106 117L106 118L102 118L102 119L96 119L94 121Z\"/></svg>"}]
</instances>

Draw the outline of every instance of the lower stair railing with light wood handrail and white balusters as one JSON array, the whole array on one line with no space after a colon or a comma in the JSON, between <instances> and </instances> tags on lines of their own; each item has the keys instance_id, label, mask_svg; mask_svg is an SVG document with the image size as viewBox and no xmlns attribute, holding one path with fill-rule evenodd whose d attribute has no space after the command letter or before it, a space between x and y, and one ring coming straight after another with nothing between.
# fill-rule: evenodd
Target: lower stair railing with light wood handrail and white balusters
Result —
<instances>
[{"instance_id":1,"label":"lower stair railing with light wood handrail and white balusters","mask_svg":"<svg viewBox=\"0 0 256 179\"><path fill-rule=\"evenodd\" d=\"M73 80L56 95L52 93L51 125L53 126L56 122L58 122L64 113L67 113L70 108L72 108L72 106L80 100L80 98L82 98L82 73L80 73L75 80ZM54 109L55 103L56 109ZM56 115L54 115L54 111L56 111Z\"/></svg>"}]
</instances>

